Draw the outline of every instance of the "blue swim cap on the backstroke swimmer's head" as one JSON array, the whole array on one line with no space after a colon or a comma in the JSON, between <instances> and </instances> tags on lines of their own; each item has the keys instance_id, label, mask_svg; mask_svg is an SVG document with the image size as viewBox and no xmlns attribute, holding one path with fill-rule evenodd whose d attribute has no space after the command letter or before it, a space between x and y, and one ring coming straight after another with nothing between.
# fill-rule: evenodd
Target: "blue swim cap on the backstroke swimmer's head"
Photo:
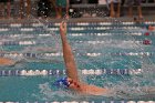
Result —
<instances>
[{"instance_id":1,"label":"blue swim cap on the backstroke swimmer's head","mask_svg":"<svg viewBox=\"0 0 155 103\"><path fill-rule=\"evenodd\" d=\"M59 79L59 80L56 80L55 82L54 82L54 85L56 85L58 87L69 87L69 82L68 82L68 78L65 76L65 78L61 78L61 79Z\"/></svg>"}]
</instances>

